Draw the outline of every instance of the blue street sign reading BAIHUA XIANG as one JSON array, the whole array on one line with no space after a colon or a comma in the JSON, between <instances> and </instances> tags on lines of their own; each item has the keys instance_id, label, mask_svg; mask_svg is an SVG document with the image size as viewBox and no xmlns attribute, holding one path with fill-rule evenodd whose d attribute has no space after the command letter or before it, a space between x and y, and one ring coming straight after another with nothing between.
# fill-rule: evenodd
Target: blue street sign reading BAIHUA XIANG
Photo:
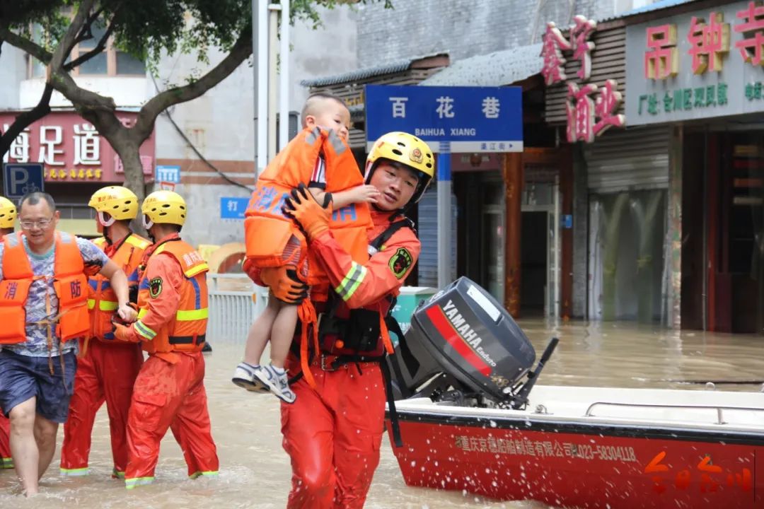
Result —
<instances>
[{"instance_id":1,"label":"blue street sign reading BAIHUA XIANG","mask_svg":"<svg viewBox=\"0 0 764 509\"><path fill-rule=\"evenodd\" d=\"M436 152L522 152L520 87L366 85L366 140L403 130Z\"/></svg>"}]
</instances>

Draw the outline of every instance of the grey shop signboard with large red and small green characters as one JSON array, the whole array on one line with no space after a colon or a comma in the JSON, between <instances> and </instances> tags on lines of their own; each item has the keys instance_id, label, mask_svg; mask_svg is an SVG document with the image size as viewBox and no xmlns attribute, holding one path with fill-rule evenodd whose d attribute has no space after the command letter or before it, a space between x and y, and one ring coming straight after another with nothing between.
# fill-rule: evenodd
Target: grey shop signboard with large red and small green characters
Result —
<instances>
[{"instance_id":1,"label":"grey shop signboard with large red and small green characters","mask_svg":"<svg viewBox=\"0 0 764 509\"><path fill-rule=\"evenodd\" d=\"M626 27L629 125L764 111L764 5L734 2Z\"/></svg>"}]
</instances>

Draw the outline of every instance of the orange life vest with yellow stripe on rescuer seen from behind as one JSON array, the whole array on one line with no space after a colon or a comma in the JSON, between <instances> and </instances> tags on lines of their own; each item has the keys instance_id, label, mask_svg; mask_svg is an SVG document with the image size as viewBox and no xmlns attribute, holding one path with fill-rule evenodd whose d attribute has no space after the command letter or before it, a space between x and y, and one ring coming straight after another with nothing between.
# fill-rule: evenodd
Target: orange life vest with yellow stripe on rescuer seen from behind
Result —
<instances>
[{"instance_id":1,"label":"orange life vest with yellow stripe on rescuer seen from behind","mask_svg":"<svg viewBox=\"0 0 764 509\"><path fill-rule=\"evenodd\" d=\"M148 353L167 352L200 352L204 347L207 332L207 275L209 266L192 246L183 240L168 240L151 253L146 265L151 265L151 259L160 253L173 256L186 279L180 287L180 302L175 317L164 324L160 330L148 330L154 334L154 339L144 341L143 347ZM151 298L149 288L151 282L146 278L146 272L141 275L138 285L138 320L144 317ZM148 329L141 322L135 327Z\"/></svg>"}]
</instances>

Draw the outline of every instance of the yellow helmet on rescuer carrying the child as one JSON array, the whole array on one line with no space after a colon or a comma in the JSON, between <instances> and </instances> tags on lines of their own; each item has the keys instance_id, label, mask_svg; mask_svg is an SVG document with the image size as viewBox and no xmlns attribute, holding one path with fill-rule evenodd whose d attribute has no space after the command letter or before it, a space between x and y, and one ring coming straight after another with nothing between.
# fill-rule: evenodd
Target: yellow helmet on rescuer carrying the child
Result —
<instances>
[{"instance_id":1,"label":"yellow helmet on rescuer carrying the child","mask_svg":"<svg viewBox=\"0 0 764 509\"><path fill-rule=\"evenodd\" d=\"M366 183L371 182L371 174L379 163L379 159L387 159L408 166L419 173L419 185L411 197L411 203L416 203L435 176L435 158L429 145L413 134L393 131L383 134L366 158Z\"/></svg>"}]
</instances>

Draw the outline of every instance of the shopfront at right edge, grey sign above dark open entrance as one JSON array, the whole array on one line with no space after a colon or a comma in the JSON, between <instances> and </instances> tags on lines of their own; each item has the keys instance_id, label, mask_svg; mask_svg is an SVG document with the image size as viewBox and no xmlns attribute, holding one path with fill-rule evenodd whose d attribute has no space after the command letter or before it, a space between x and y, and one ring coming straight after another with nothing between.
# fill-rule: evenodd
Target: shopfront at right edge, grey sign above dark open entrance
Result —
<instances>
[{"instance_id":1,"label":"shopfront at right edge, grey sign above dark open entrance","mask_svg":"<svg viewBox=\"0 0 764 509\"><path fill-rule=\"evenodd\" d=\"M764 8L688 2L626 26L626 115L669 139L682 328L764 333Z\"/></svg>"}]
</instances>

